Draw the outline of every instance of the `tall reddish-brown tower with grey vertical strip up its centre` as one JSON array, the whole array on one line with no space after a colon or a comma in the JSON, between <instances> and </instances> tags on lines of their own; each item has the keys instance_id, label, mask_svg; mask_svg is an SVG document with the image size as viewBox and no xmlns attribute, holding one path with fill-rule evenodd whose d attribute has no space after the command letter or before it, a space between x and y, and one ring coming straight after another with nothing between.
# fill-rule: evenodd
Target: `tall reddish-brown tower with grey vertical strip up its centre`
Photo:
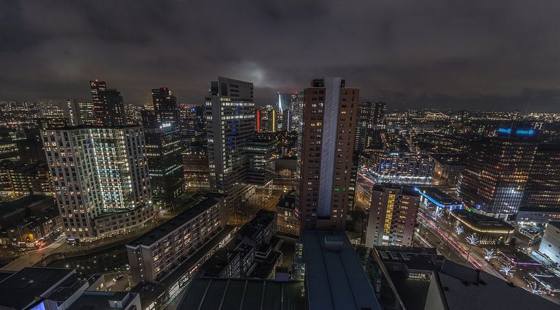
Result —
<instances>
[{"instance_id":1,"label":"tall reddish-brown tower with grey vertical strip up its centre","mask_svg":"<svg viewBox=\"0 0 560 310\"><path fill-rule=\"evenodd\" d=\"M300 212L302 230L344 230L359 88L342 78L313 80L304 91Z\"/></svg>"}]
</instances>

